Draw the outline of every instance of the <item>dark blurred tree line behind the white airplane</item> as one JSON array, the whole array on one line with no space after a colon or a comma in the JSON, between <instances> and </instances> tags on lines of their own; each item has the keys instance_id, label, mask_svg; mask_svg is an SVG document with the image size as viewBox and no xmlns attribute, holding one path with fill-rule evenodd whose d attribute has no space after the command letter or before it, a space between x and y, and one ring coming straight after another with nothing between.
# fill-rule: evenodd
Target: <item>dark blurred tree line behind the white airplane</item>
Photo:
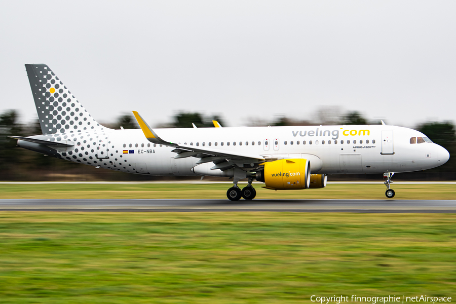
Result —
<instances>
[{"instance_id":1,"label":"dark blurred tree line behind the white airplane","mask_svg":"<svg viewBox=\"0 0 456 304\"><path fill-rule=\"evenodd\" d=\"M213 128L213 120L218 121L223 127L224 120L218 116L204 116L198 112L179 112L171 123L158 127L166 128L192 128L193 124L198 128ZM249 120L250 126L296 126L296 125L365 125L378 124L369 122L357 111L349 111L343 115L330 110L317 111L314 119L293 120L287 117L278 117L274 121ZM133 115L124 114L115 122L103 124L113 129L139 128ZM433 179L433 180L456 180L456 128L452 122L425 122L415 127L415 130L426 134L433 142L443 146L449 151L449 161L440 167L423 172L401 173L398 178L404 179ZM19 123L17 110L8 110L0 113L0 180L143 180L140 175L114 172L110 170L97 170L90 166L84 166L67 162L52 157L44 157L17 147L17 141L8 136L31 136L42 134L39 121L28 124ZM453 157L454 156L454 157ZM375 175L375 176L373 176ZM151 179L154 177L147 177ZM331 176L331 179L347 178ZM350 176L349 179L375 179L376 174ZM396 178L396 176L395 176Z\"/></svg>"}]
</instances>

